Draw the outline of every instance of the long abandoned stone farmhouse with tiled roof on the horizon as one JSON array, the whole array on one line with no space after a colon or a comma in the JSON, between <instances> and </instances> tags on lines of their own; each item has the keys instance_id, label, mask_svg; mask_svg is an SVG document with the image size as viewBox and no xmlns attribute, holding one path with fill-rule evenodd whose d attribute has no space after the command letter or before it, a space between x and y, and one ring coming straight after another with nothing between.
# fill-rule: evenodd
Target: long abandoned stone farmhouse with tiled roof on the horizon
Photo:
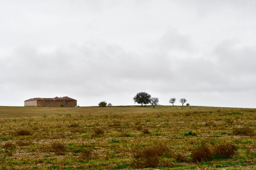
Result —
<instances>
[{"instance_id":1,"label":"long abandoned stone farmhouse with tiled roof on the horizon","mask_svg":"<svg viewBox=\"0 0 256 170\"><path fill-rule=\"evenodd\" d=\"M32 98L24 101L24 106L76 107L76 100L70 97Z\"/></svg>"}]
</instances>

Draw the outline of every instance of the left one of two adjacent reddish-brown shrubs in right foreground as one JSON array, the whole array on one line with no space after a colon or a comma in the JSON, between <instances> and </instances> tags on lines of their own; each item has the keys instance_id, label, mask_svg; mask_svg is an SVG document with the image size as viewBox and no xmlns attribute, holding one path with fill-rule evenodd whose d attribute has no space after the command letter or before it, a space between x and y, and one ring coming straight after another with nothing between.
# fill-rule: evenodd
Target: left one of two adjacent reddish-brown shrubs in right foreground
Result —
<instances>
[{"instance_id":1,"label":"left one of two adjacent reddish-brown shrubs in right foreground","mask_svg":"<svg viewBox=\"0 0 256 170\"><path fill-rule=\"evenodd\" d=\"M202 162L211 159L211 150L209 146L200 145L198 148L192 150L192 160L195 162Z\"/></svg>"}]
</instances>

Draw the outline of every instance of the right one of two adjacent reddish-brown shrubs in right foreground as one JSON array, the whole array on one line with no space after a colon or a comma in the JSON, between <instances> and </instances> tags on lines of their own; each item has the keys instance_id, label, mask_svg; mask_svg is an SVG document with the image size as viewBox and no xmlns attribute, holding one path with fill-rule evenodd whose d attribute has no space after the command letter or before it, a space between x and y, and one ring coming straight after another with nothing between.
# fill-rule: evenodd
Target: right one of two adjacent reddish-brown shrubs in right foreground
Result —
<instances>
[{"instance_id":1,"label":"right one of two adjacent reddish-brown shrubs in right foreground","mask_svg":"<svg viewBox=\"0 0 256 170\"><path fill-rule=\"evenodd\" d=\"M213 157L216 159L225 159L235 155L237 148L234 144L219 144L213 150Z\"/></svg>"}]
</instances>

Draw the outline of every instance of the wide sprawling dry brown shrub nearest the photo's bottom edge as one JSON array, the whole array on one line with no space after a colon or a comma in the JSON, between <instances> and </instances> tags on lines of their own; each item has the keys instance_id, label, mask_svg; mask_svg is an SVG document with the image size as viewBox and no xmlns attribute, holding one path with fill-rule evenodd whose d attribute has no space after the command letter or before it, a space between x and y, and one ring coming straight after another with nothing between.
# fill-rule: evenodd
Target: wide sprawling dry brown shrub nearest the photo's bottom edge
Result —
<instances>
[{"instance_id":1,"label":"wide sprawling dry brown shrub nearest the photo's bottom edge","mask_svg":"<svg viewBox=\"0 0 256 170\"><path fill-rule=\"evenodd\" d=\"M156 167L161 163L159 157L168 154L169 148L162 144L155 144L144 148L134 148L134 150L132 150L132 165L135 168Z\"/></svg>"}]
</instances>

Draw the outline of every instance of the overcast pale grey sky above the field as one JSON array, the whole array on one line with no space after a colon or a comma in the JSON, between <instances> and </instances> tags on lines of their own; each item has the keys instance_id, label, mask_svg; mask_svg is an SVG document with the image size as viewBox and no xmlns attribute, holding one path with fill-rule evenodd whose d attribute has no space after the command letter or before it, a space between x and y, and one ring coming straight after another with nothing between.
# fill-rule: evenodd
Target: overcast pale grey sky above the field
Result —
<instances>
[{"instance_id":1,"label":"overcast pale grey sky above the field","mask_svg":"<svg viewBox=\"0 0 256 170\"><path fill-rule=\"evenodd\" d=\"M0 106L256 108L254 0L0 0Z\"/></svg>"}]
</instances>

